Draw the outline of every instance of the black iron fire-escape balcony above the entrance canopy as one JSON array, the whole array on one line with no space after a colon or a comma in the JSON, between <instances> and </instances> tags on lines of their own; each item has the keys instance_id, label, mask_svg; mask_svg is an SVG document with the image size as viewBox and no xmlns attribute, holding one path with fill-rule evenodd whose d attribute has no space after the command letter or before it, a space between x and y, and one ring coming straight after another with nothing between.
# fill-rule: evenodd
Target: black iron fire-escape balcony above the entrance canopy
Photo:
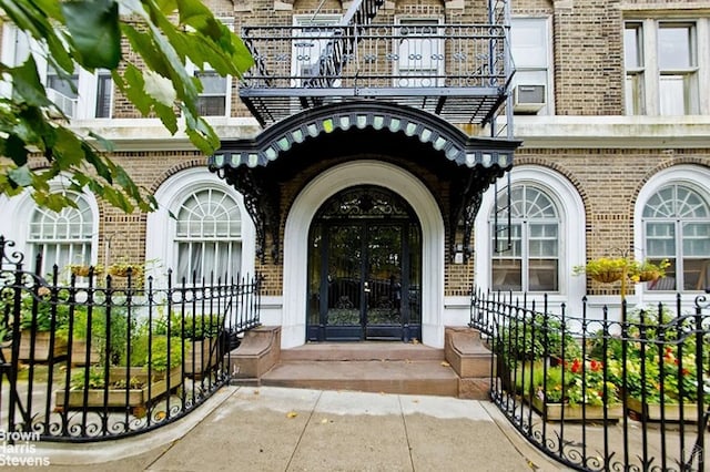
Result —
<instances>
[{"instance_id":1,"label":"black iron fire-escape balcony above the entrance canopy","mask_svg":"<svg viewBox=\"0 0 710 472\"><path fill-rule=\"evenodd\" d=\"M452 123L489 121L513 75L500 24L245 27L240 96L264 126L315 106L378 100Z\"/></svg>"}]
</instances>

